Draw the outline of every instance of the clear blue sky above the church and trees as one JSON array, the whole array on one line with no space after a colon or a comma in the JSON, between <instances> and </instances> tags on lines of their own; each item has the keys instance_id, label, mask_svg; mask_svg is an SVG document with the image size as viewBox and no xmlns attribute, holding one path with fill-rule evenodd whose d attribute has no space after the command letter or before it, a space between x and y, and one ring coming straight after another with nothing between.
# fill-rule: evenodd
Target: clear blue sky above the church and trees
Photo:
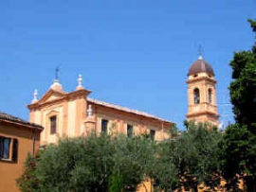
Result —
<instances>
[{"instance_id":1,"label":"clear blue sky above the church and trees","mask_svg":"<svg viewBox=\"0 0 256 192\"><path fill-rule=\"evenodd\" d=\"M255 0L44 0L0 2L0 111L28 120L61 68L65 91L153 113L183 129L187 73L203 57L214 69L221 120L232 121L228 86L234 51L254 34Z\"/></svg>"}]
</instances>

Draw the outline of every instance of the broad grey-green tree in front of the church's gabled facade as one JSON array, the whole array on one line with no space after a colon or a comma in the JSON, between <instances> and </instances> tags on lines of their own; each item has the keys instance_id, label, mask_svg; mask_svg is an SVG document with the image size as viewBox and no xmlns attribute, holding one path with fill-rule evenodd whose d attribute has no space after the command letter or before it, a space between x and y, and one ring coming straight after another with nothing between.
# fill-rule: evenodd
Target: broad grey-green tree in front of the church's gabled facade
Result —
<instances>
[{"instance_id":1,"label":"broad grey-green tree in front of the church's gabled facade","mask_svg":"<svg viewBox=\"0 0 256 192\"><path fill-rule=\"evenodd\" d=\"M64 139L46 147L36 168L38 191L107 191L112 153L108 135Z\"/></svg>"}]
</instances>

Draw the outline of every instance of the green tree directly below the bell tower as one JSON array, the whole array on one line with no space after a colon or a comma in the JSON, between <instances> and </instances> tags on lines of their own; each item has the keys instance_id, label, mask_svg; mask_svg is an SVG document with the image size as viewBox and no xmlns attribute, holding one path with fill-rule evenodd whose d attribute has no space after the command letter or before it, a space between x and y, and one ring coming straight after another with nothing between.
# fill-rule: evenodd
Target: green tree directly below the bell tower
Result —
<instances>
[{"instance_id":1,"label":"green tree directly below the bell tower","mask_svg":"<svg viewBox=\"0 0 256 192\"><path fill-rule=\"evenodd\" d=\"M176 140L181 186L197 191L200 184L215 190L220 183L219 143L221 133L208 124L188 124Z\"/></svg>"}]
</instances>

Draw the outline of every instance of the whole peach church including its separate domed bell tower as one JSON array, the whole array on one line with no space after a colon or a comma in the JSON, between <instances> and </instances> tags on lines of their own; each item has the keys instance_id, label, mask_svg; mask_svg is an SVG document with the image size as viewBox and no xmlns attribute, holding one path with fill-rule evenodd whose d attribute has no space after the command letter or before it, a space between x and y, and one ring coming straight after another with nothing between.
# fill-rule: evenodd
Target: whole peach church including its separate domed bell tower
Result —
<instances>
[{"instance_id":1,"label":"whole peach church including its separate domed bell tower","mask_svg":"<svg viewBox=\"0 0 256 192\"><path fill-rule=\"evenodd\" d=\"M216 80L212 67L202 56L192 63L187 84L187 120L218 126ZM58 76L40 99L35 90L34 99L27 107L30 122L45 128L41 133L42 146L56 144L62 137L86 136L91 131L127 136L147 133L155 141L172 136L174 122L91 98L90 93L83 88L81 75L76 89L70 93L64 92Z\"/></svg>"}]
</instances>

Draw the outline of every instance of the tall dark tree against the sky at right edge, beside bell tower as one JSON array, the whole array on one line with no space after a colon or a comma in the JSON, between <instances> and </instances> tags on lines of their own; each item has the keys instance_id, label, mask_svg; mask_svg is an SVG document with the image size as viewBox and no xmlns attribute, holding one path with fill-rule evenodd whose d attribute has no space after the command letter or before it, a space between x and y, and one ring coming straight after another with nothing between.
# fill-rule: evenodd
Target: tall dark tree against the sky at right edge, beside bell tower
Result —
<instances>
[{"instance_id":1,"label":"tall dark tree against the sky at right edge, beside bell tower","mask_svg":"<svg viewBox=\"0 0 256 192\"><path fill-rule=\"evenodd\" d=\"M255 27L255 22L251 21L251 25ZM256 52L235 53L230 66L233 81L229 91L235 120L250 131L256 131Z\"/></svg>"}]
</instances>

